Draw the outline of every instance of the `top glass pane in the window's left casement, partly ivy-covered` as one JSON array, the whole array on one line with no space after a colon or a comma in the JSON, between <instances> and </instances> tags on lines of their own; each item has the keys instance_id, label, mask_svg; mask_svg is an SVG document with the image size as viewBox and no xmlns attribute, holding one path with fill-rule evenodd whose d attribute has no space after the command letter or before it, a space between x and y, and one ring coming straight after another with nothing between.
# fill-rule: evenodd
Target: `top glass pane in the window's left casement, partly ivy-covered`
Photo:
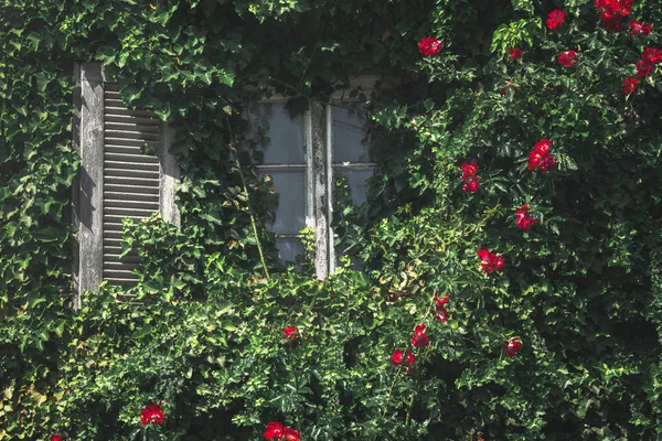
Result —
<instances>
[{"instance_id":1,"label":"top glass pane in the window's left casement, partly ivy-covered","mask_svg":"<svg viewBox=\"0 0 662 441\"><path fill-rule=\"evenodd\" d=\"M265 164L306 163L303 117L290 118L281 103L257 103L250 108L252 137L259 141L259 129L266 128L269 144L258 149L265 153Z\"/></svg>"}]
</instances>

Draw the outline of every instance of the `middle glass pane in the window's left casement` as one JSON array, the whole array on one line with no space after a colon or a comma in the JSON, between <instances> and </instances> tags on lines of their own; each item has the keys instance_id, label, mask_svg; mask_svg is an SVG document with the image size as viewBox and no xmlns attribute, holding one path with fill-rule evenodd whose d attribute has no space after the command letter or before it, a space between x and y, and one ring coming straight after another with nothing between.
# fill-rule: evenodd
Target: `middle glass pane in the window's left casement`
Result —
<instances>
[{"instance_id":1,"label":"middle glass pane in the window's left casement","mask_svg":"<svg viewBox=\"0 0 662 441\"><path fill-rule=\"evenodd\" d=\"M264 170L274 179L279 194L276 219L267 225L273 233L297 234L306 226L306 172L303 170Z\"/></svg>"}]
</instances>

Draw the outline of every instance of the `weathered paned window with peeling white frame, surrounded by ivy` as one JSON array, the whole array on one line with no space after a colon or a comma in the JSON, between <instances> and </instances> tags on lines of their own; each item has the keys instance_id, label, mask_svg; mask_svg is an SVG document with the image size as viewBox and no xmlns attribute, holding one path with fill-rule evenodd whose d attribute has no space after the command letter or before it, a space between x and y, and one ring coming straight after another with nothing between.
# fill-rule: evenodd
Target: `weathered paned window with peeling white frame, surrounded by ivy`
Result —
<instances>
[{"instance_id":1,"label":"weathered paned window with peeling white frame, surrounded by ivy","mask_svg":"<svg viewBox=\"0 0 662 441\"><path fill-rule=\"evenodd\" d=\"M331 105L311 101L302 115L290 118L285 100L269 100L249 108L255 137L265 129L269 143L261 175L270 175L279 193L275 220L267 228L276 236L282 260L302 254L299 230L316 234L316 273L323 279L335 267L332 195L334 180L348 179L354 203L365 202L366 180L375 164L370 162L364 114L338 100Z\"/></svg>"}]
</instances>

